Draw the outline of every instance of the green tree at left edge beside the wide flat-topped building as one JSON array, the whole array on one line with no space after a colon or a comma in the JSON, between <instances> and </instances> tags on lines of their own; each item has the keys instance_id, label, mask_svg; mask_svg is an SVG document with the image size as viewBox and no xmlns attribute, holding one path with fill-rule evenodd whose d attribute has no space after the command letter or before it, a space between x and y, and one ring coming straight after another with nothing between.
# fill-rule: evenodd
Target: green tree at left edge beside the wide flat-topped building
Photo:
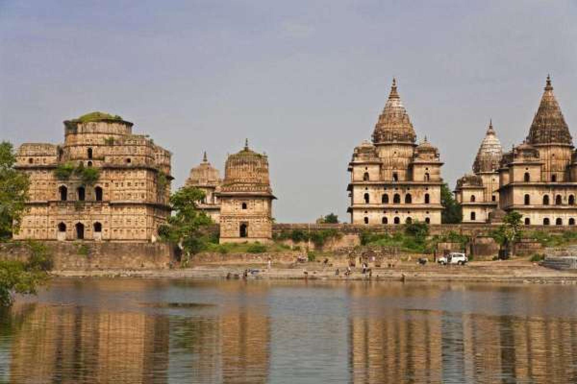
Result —
<instances>
[{"instance_id":1,"label":"green tree at left edge beside the wide flat-topped building","mask_svg":"<svg viewBox=\"0 0 577 384\"><path fill-rule=\"evenodd\" d=\"M12 144L0 143L0 239L20 230L22 214L28 201L28 175L14 169L16 155Z\"/></svg>"}]
</instances>

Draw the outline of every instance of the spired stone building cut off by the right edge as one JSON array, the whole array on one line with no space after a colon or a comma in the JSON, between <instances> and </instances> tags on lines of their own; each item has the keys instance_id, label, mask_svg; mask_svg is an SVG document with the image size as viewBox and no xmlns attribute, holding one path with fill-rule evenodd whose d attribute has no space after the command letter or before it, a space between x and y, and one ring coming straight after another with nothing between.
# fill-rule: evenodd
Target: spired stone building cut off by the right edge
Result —
<instances>
[{"instance_id":1,"label":"spired stone building cut off by the right edge","mask_svg":"<svg viewBox=\"0 0 577 384\"><path fill-rule=\"evenodd\" d=\"M529 135L501 159L499 185L500 207L527 225L577 220L577 153L549 76Z\"/></svg>"}]
</instances>

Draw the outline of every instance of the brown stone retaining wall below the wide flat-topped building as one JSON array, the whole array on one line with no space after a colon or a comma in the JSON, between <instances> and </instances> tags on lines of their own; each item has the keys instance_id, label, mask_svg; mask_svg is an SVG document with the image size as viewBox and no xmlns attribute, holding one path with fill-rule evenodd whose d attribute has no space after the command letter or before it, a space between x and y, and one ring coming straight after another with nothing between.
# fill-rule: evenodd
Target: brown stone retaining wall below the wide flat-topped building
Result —
<instances>
[{"instance_id":1,"label":"brown stone retaining wall below the wide flat-topped building","mask_svg":"<svg viewBox=\"0 0 577 384\"><path fill-rule=\"evenodd\" d=\"M164 269L177 265L173 249L162 243L44 242L54 270ZM0 244L0 258L25 260L26 243Z\"/></svg>"}]
</instances>

